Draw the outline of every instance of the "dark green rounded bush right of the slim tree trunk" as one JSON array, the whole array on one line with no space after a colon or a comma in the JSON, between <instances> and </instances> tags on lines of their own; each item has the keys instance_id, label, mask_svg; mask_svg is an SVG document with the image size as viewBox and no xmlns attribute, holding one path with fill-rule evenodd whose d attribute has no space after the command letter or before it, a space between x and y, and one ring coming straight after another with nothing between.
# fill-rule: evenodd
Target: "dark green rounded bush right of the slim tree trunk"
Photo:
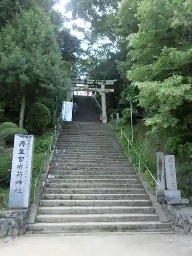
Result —
<instances>
[{"instance_id":1,"label":"dark green rounded bush right of the slim tree trunk","mask_svg":"<svg viewBox=\"0 0 192 256\"><path fill-rule=\"evenodd\" d=\"M46 131L50 122L50 110L46 105L36 102L31 106L26 122L30 132L41 135Z\"/></svg>"}]
</instances>

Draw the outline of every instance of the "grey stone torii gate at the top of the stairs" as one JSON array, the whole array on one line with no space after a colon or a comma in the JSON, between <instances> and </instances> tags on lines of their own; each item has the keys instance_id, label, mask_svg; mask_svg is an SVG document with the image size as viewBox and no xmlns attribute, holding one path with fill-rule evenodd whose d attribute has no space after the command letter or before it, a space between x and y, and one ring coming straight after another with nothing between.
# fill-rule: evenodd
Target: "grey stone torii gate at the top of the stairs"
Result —
<instances>
[{"instance_id":1,"label":"grey stone torii gate at the top of the stairs","mask_svg":"<svg viewBox=\"0 0 192 256\"><path fill-rule=\"evenodd\" d=\"M106 123L106 97L105 93L113 93L114 89L106 89L105 86L112 85L117 80L86 80L86 79L72 79L73 84L85 84L82 87L73 87L72 91L93 91L101 93L101 106L102 106L102 122ZM100 85L100 88L92 88L96 84ZM89 87L90 86L90 87Z\"/></svg>"}]
</instances>

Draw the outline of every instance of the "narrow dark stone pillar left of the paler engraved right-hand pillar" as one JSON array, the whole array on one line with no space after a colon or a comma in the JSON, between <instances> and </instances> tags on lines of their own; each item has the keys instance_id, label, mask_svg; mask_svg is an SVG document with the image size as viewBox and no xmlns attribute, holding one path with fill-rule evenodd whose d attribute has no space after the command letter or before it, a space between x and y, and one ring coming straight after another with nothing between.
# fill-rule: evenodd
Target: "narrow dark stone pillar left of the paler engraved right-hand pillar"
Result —
<instances>
[{"instance_id":1,"label":"narrow dark stone pillar left of the paler engraved right-hand pillar","mask_svg":"<svg viewBox=\"0 0 192 256\"><path fill-rule=\"evenodd\" d=\"M158 194L164 195L165 191L165 163L163 152L156 152L157 156L157 186Z\"/></svg>"}]
</instances>

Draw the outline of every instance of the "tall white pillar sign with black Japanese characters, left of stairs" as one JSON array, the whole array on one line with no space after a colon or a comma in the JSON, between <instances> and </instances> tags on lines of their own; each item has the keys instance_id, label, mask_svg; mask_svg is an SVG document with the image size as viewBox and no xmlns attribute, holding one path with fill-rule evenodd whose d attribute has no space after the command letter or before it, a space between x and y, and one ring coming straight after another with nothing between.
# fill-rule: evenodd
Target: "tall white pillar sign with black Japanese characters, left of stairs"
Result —
<instances>
[{"instance_id":1,"label":"tall white pillar sign with black Japanese characters, left of stairs","mask_svg":"<svg viewBox=\"0 0 192 256\"><path fill-rule=\"evenodd\" d=\"M15 135L9 189L9 208L29 208L33 147L33 135Z\"/></svg>"}]
</instances>

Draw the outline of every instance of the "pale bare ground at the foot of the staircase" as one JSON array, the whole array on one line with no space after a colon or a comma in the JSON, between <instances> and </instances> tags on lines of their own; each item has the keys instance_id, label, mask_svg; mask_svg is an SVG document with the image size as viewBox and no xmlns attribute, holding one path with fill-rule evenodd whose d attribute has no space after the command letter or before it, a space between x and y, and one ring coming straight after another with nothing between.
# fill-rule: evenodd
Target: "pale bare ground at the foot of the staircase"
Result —
<instances>
[{"instance_id":1,"label":"pale bare ground at the foot of the staircase","mask_svg":"<svg viewBox=\"0 0 192 256\"><path fill-rule=\"evenodd\" d=\"M191 256L192 236L178 234L33 236L0 240L6 256Z\"/></svg>"}]
</instances>

